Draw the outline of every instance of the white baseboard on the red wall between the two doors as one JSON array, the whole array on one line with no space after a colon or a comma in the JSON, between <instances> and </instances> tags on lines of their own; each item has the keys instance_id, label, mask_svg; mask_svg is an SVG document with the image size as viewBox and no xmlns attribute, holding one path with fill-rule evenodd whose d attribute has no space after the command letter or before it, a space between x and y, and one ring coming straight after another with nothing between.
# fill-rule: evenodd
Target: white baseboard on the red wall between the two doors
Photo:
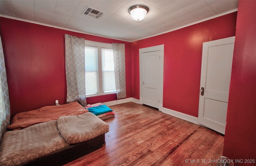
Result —
<instances>
[{"instance_id":1,"label":"white baseboard on the red wall between the two doors","mask_svg":"<svg viewBox=\"0 0 256 166\"><path fill-rule=\"evenodd\" d=\"M177 117L177 118L180 118L180 119L183 119L185 121L188 121L188 122L191 122L191 123L194 123L194 124L198 124L198 118L197 117L193 117L191 115L187 115L187 114L184 114L184 113L180 113L178 111L174 111L174 110L171 110L171 109L167 109L167 108L164 108L164 107L160 107L159 108L159 111L162 111L162 113L166 113L168 115L172 115L174 117Z\"/></svg>"}]
</instances>

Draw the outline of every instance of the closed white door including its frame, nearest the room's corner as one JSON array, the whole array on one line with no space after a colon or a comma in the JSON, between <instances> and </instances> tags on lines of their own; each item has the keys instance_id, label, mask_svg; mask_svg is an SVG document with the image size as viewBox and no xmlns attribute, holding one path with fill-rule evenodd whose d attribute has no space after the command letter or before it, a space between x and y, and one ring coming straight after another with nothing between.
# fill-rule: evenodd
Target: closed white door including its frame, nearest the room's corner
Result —
<instances>
[{"instance_id":1,"label":"closed white door including its frame, nearest the room's corner","mask_svg":"<svg viewBox=\"0 0 256 166\"><path fill-rule=\"evenodd\" d=\"M159 108L162 106L164 50L140 49L140 102Z\"/></svg>"}]
</instances>

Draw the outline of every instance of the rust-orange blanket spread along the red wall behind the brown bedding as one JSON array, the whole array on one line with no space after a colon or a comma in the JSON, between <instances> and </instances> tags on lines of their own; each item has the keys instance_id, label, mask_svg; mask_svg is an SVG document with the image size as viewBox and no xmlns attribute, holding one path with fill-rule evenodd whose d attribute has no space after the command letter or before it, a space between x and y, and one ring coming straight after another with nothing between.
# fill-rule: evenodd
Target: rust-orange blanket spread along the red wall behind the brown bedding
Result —
<instances>
[{"instance_id":1,"label":"rust-orange blanket spread along the red wall behind the brown bedding","mask_svg":"<svg viewBox=\"0 0 256 166\"><path fill-rule=\"evenodd\" d=\"M77 101L64 105L45 106L40 109L16 114L12 118L11 124L7 126L7 129L20 130L34 124L57 120L62 116L81 115L87 112L88 110Z\"/></svg>"}]
</instances>

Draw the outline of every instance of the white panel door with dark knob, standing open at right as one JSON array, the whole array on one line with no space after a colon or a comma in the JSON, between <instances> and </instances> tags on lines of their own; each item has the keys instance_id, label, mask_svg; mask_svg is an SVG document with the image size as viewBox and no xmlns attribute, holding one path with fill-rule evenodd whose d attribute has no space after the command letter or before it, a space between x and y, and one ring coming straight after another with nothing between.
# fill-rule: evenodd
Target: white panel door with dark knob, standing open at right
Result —
<instances>
[{"instance_id":1,"label":"white panel door with dark knob, standing open at right","mask_svg":"<svg viewBox=\"0 0 256 166\"><path fill-rule=\"evenodd\" d=\"M225 134L235 37L203 43L198 123Z\"/></svg>"}]
</instances>

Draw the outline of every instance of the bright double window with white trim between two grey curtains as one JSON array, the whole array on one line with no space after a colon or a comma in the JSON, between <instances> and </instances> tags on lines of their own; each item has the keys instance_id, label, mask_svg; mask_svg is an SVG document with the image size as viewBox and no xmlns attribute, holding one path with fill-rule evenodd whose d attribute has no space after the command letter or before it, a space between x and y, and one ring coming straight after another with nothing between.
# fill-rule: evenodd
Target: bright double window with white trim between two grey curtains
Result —
<instances>
[{"instance_id":1,"label":"bright double window with white trim between two grey curtains","mask_svg":"<svg viewBox=\"0 0 256 166\"><path fill-rule=\"evenodd\" d=\"M86 96L116 93L112 44L85 41Z\"/></svg>"}]
</instances>

